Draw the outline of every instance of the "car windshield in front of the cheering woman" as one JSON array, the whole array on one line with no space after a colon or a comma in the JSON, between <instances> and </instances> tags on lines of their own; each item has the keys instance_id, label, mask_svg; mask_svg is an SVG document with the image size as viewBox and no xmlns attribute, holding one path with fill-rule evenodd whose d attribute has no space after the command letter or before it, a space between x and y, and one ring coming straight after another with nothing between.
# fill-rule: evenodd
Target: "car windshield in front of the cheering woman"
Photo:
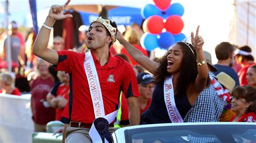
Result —
<instances>
[{"instance_id":1,"label":"car windshield in front of the cheering woman","mask_svg":"<svg viewBox=\"0 0 256 143\"><path fill-rule=\"evenodd\" d=\"M126 142L254 142L253 125L189 125L125 130Z\"/></svg>"}]
</instances>

